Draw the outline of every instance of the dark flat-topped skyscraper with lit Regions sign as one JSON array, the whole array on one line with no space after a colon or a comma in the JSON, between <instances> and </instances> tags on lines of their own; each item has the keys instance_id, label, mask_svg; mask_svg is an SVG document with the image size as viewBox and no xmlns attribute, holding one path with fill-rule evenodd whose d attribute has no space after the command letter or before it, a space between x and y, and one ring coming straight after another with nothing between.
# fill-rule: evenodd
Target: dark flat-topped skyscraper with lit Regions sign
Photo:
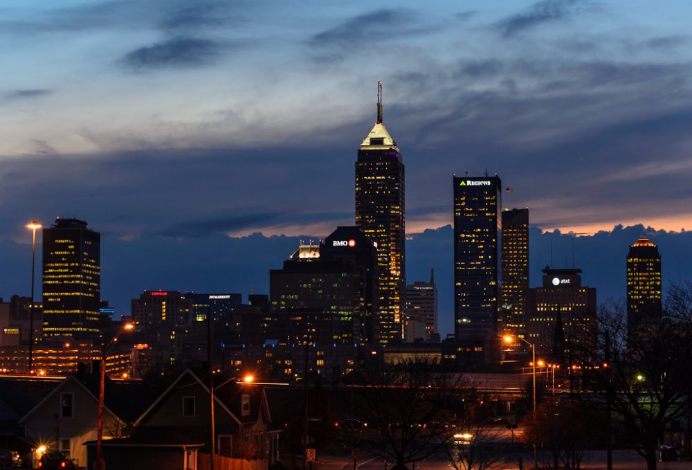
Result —
<instances>
[{"instance_id":1,"label":"dark flat-topped skyscraper with lit Regions sign","mask_svg":"<svg viewBox=\"0 0 692 470\"><path fill-rule=\"evenodd\" d=\"M498 336L500 177L454 177L454 332L462 361L489 361Z\"/></svg>"}]
</instances>

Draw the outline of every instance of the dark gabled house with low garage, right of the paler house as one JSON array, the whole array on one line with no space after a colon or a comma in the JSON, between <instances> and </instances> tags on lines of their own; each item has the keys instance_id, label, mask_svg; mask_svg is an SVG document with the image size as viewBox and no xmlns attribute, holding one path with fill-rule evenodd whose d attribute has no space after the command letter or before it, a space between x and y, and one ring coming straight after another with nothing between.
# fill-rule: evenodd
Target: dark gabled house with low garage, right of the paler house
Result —
<instances>
[{"instance_id":1,"label":"dark gabled house with low garage, right of the paler house","mask_svg":"<svg viewBox=\"0 0 692 470\"><path fill-rule=\"evenodd\" d=\"M220 374L214 381L216 453L258 460L262 462L258 468L266 469L277 460L278 431L267 429L271 417L264 387ZM172 470L197 469L197 459L208 459L211 450L211 403L208 378L185 370L136 420L131 436L104 442L104 461L131 470L150 469L151 462ZM86 446L92 462L95 442Z\"/></svg>"}]
</instances>

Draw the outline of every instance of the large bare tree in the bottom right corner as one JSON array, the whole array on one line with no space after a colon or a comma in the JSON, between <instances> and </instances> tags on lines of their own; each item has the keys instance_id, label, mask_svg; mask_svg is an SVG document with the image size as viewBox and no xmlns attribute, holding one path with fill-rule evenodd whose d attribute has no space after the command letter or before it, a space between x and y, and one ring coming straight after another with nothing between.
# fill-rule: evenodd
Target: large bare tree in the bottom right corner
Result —
<instances>
[{"instance_id":1,"label":"large bare tree in the bottom right corner","mask_svg":"<svg viewBox=\"0 0 692 470\"><path fill-rule=\"evenodd\" d=\"M684 300L691 292L679 294ZM613 433L646 458L648 470L656 469L664 431L684 417L692 393L692 324L685 317L684 309L668 311L633 331L621 307L604 307L599 318L590 388L608 404Z\"/></svg>"}]
</instances>

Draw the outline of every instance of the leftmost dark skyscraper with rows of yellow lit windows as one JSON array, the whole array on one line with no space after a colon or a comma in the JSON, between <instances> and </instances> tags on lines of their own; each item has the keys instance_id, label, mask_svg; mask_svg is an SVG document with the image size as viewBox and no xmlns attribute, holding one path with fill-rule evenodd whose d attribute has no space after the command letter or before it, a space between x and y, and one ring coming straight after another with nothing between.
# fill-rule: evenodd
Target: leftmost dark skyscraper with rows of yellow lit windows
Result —
<instances>
[{"instance_id":1,"label":"leftmost dark skyscraper with rows of yellow lit windows","mask_svg":"<svg viewBox=\"0 0 692 470\"><path fill-rule=\"evenodd\" d=\"M100 234L78 219L43 231L44 336L100 334Z\"/></svg>"}]
</instances>

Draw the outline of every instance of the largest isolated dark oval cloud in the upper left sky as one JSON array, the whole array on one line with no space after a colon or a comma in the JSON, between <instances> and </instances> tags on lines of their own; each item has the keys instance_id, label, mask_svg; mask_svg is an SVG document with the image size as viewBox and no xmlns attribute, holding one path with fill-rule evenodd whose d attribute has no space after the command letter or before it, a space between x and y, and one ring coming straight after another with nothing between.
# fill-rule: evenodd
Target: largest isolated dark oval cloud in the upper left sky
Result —
<instances>
[{"instance_id":1,"label":"largest isolated dark oval cloud in the upper left sky","mask_svg":"<svg viewBox=\"0 0 692 470\"><path fill-rule=\"evenodd\" d=\"M224 44L209 39L174 37L135 49L127 53L121 62L136 71L203 66L215 62L225 49Z\"/></svg>"}]
</instances>

